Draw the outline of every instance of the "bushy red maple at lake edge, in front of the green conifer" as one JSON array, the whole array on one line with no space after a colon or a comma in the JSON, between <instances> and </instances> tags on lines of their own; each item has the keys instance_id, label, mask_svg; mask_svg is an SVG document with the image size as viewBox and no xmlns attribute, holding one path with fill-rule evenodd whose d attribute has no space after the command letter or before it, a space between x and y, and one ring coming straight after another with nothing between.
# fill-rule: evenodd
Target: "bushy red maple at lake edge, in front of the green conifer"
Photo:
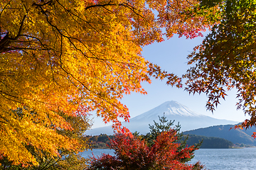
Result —
<instances>
[{"instance_id":1,"label":"bushy red maple at lake edge, in front of the green conifer","mask_svg":"<svg viewBox=\"0 0 256 170\"><path fill-rule=\"evenodd\" d=\"M110 140L110 149L114 149L115 156L93 157L88 169L203 169L199 163L182 162L193 156L194 147L178 151L181 144L176 140L176 130L172 129L161 132L151 147L139 137L116 134Z\"/></svg>"}]
</instances>

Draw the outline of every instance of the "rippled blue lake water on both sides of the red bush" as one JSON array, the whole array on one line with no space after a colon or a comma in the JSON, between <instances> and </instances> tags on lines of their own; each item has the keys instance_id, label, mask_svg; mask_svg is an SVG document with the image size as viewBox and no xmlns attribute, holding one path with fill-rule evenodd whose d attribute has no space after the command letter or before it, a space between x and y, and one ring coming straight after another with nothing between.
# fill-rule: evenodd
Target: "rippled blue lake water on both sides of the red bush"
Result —
<instances>
[{"instance_id":1,"label":"rippled blue lake water on both sides of the red bush","mask_svg":"<svg viewBox=\"0 0 256 170\"><path fill-rule=\"evenodd\" d=\"M82 152L82 157L100 156L102 153L114 155L111 149L93 149ZM200 161L206 165L206 169L222 170L222 169L256 169L256 147L243 149L198 149L195 157L190 163Z\"/></svg>"}]
</instances>

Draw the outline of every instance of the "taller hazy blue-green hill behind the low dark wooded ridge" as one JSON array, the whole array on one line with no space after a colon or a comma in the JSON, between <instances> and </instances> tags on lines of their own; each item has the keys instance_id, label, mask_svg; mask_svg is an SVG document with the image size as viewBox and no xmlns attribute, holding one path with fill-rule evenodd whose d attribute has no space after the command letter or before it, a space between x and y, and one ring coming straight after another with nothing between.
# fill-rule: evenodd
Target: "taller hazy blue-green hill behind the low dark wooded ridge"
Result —
<instances>
[{"instance_id":1,"label":"taller hazy blue-green hill behind the low dark wooded ridge","mask_svg":"<svg viewBox=\"0 0 256 170\"><path fill-rule=\"evenodd\" d=\"M256 146L256 140L251 137L252 132L255 129L247 129L247 130L240 130L240 129L231 129L234 125L215 125L208 128L200 128L196 130L189 130L183 132L183 134L189 135L202 135L206 137L220 137L225 140L229 140L230 142L236 143L243 143L245 145L253 145Z\"/></svg>"}]
</instances>

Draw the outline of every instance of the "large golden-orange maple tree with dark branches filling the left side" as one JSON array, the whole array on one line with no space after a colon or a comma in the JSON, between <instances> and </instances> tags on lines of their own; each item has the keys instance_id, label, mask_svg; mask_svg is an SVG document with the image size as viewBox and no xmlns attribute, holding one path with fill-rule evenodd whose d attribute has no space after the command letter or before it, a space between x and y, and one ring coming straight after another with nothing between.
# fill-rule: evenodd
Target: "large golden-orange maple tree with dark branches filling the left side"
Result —
<instances>
[{"instance_id":1,"label":"large golden-orange maple tree with dark branches filling the left side","mask_svg":"<svg viewBox=\"0 0 256 170\"><path fill-rule=\"evenodd\" d=\"M196 0L1 0L0 158L38 165L26 145L52 157L60 156L58 149L78 152L77 140L58 134L73 130L58 113L96 111L118 132L118 118L129 121L119 99L132 91L146 94L142 81L167 78L167 84L181 87L175 74L142 57L142 47L164 35L201 35L214 21L206 9L194 12L198 5Z\"/></svg>"}]
</instances>

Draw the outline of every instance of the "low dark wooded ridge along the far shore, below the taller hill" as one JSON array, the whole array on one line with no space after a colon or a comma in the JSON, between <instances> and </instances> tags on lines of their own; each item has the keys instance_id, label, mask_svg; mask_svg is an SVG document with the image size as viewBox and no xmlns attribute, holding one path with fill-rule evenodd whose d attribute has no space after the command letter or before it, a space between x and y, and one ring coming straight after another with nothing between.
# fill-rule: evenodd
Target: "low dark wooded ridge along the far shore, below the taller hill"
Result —
<instances>
[{"instance_id":1,"label":"low dark wooded ridge along the far shore, below the taller hill","mask_svg":"<svg viewBox=\"0 0 256 170\"><path fill-rule=\"evenodd\" d=\"M206 137L200 135L188 135L186 144L190 147L191 145L198 144L201 140L203 140L203 143L200 149L225 149L233 147L233 142L229 140L220 137Z\"/></svg>"}]
</instances>

